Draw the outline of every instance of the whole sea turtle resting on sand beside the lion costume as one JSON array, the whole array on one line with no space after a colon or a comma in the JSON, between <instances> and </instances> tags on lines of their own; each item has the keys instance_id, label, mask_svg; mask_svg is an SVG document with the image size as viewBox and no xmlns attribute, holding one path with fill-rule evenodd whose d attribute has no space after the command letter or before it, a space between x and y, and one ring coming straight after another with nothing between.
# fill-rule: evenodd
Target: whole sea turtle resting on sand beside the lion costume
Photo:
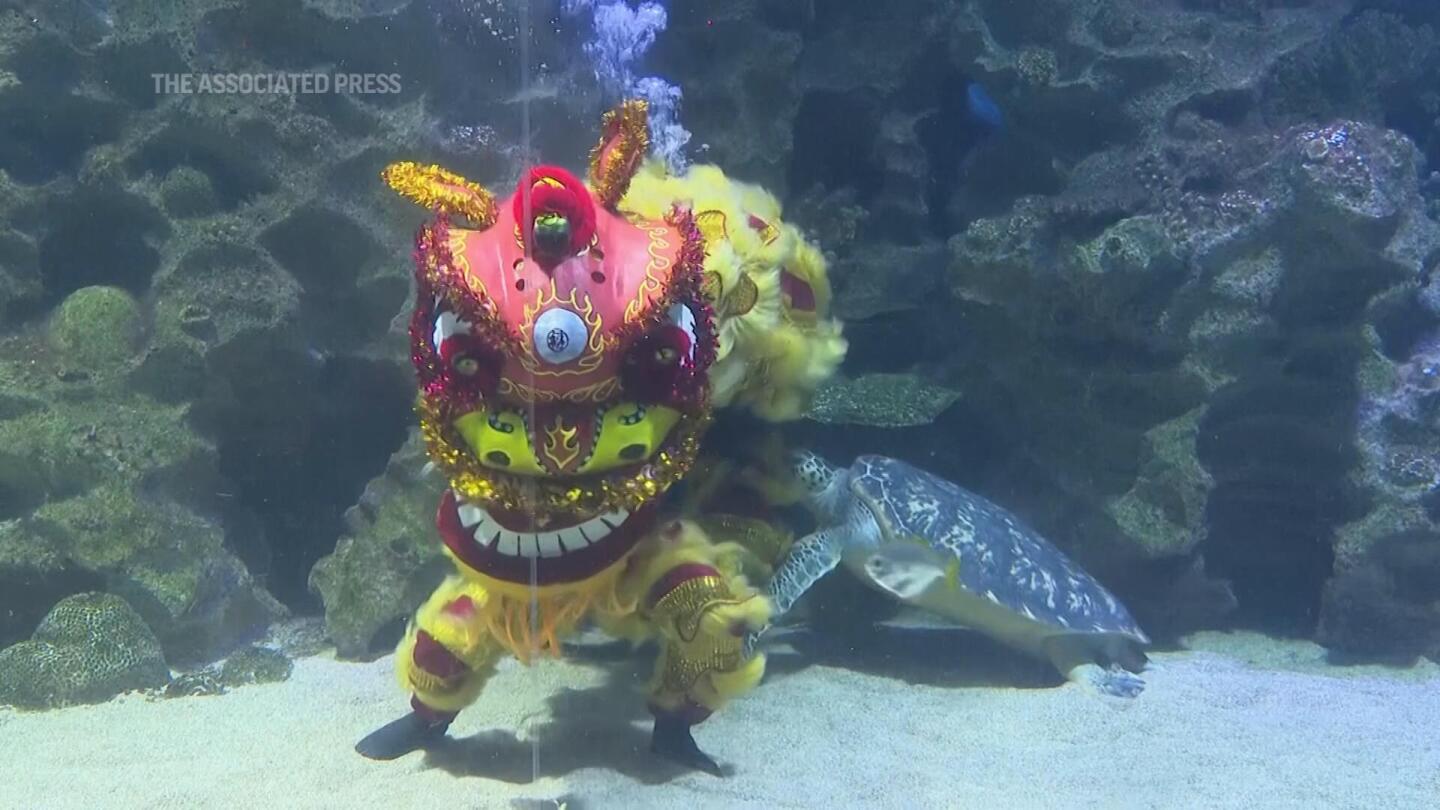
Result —
<instances>
[{"instance_id":1,"label":"whole sea turtle resting on sand beside the lion costume","mask_svg":"<svg viewBox=\"0 0 1440 810\"><path fill-rule=\"evenodd\" d=\"M1149 638L1103 585L1001 506L897 458L848 470L795 453L821 526L769 584L775 615L844 565L894 598L1020 651L1104 695L1133 698ZM755 638L750 638L755 643Z\"/></svg>"}]
</instances>

